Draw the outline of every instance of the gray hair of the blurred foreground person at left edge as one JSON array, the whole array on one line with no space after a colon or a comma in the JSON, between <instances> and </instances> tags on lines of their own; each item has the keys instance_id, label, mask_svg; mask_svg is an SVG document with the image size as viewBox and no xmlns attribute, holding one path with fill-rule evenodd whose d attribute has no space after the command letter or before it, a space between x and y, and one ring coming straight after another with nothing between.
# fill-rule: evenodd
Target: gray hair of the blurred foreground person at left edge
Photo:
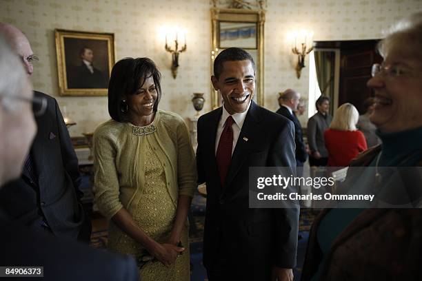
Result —
<instances>
[{"instance_id":1,"label":"gray hair of the blurred foreground person at left edge","mask_svg":"<svg viewBox=\"0 0 422 281\"><path fill-rule=\"evenodd\" d=\"M12 103L8 103L7 96L19 96L24 90L25 83L22 82L25 79L26 73L19 56L0 34L0 105L6 110L12 110Z\"/></svg>"}]
</instances>

